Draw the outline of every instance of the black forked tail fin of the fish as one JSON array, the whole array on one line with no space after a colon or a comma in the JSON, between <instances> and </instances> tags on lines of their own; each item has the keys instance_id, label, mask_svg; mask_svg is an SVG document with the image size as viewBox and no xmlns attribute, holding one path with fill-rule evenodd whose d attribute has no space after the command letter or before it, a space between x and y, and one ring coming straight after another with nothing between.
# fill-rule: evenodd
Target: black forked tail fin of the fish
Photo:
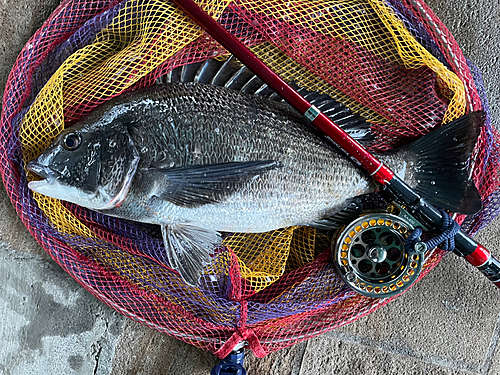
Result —
<instances>
[{"instance_id":1,"label":"black forked tail fin of the fish","mask_svg":"<svg viewBox=\"0 0 500 375\"><path fill-rule=\"evenodd\" d=\"M415 190L430 203L466 215L481 209L467 164L483 123L483 112L469 113L409 147L417 159Z\"/></svg>"}]
</instances>

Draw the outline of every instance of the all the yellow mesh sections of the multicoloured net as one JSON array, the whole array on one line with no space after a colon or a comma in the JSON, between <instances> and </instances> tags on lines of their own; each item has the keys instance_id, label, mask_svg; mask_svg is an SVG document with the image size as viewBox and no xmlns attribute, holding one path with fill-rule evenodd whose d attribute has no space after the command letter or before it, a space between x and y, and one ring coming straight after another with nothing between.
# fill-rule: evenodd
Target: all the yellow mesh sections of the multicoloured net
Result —
<instances>
[{"instance_id":1,"label":"all the yellow mesh sections of the multicoloured net","mask_svg":"<svg viewBox=\"0 0 500 375\"><path fill-rule=\"evenodd\" d=\"M198 3L218 18L231 1ZM444 122L464 113L462 82L411 36L382 1L244 1L239 5L303 28L313 28L325 36L349 39L408 70L427 66L437 75L442 93L450 93L446 94L449 106ZM325 12L331 17L325 18ZM131 14L137 18L136 22L128 21ZM23 118L20 131L24 161L34 159L64 129L65 110L120 94L203 35L193 21L168 1L129 2L91 44L73 53L60 66L39 93ZM275 45L263 43L253 50L285 80L295 80L311 91L330 94L370 121L391 125L390 120L312 74ZM57 230L93 237L92 231L59 201L38 194L35 200ZM242 277L255 291L275 282L286 270L313 260L315 244L315 231L300 228L259 235L237 234L226 241L239 257ZM150 270L132 264L128 255L106 251L96 249L96 256L103 262L117 263L116 267L126 270L125 277L133 279L134 273L149 275Z\"/></svg>"}]
</instances>

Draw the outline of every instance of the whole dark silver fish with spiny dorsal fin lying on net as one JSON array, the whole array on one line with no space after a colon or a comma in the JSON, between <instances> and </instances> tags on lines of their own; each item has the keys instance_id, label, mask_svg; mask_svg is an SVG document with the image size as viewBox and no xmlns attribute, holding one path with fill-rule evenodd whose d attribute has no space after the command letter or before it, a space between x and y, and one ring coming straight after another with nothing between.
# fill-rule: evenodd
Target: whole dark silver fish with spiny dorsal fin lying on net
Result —
<instances>
[{"instance_id":1,"label":"whole dark silver fish with spiny dorsal fin lying on net","mask_svg":"<svg viewBox=\"0 0 500 375\"><path fill-rule=\"evenodd\" d=\"M354 197L379 190L252 74L208 64L107 101L27 166L42 178L28 184L37 193L160 225L170 267L193 286L221 232L321 225ZM364 119L330 97L304 95L361 143L373 142ZM482 118L467 114L376 156L431 203L477 212L467 163Z\"/></svg>"}]
</instances>

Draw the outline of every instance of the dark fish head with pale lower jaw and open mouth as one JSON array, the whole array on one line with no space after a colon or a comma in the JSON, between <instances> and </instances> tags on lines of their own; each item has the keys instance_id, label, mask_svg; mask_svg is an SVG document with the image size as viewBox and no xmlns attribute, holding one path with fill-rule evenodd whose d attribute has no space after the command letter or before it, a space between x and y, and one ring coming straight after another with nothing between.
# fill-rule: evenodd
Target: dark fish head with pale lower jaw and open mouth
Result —
<instances>
[{"instance_id":1,"label":"dark fish head with pale lower jaw and open mouth","mask_svg":"<svg viewBox=\"0 0 500 375\"><path fill-rule=\"evenodd\" d=\"M127 127L82 124L64 130L28 169L42 177L28 187L94 210L119 206L139 162Z\"/></svg>"}]
</instances>

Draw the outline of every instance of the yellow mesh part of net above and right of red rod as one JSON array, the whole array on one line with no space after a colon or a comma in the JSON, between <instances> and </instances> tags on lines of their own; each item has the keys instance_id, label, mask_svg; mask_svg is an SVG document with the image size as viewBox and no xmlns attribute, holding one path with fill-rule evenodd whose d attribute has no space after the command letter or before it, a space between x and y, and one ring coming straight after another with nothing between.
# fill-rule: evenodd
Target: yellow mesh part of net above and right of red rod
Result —
<instances>
[{"instance_id":1,"label":"yellow mesh part of net above and right of red rod","mask_svg":"<svg viewBox=\"0 0 500 375\"><path fill-rule=\"evenodd\" d=\"M278 14L279 16L276 16L276 18L282 17L288 22L304 28L314 29L325 36L349 39L384 59L401 64L406 69L418 69L427 66L437 74L443 85L453 93L443 123L446 124L464 114L465 90L462 81L415 40L403 22L396 17L383 1L304 2L299 0L287 1L284 7L276 7L273 2L248 1L243 4L255 13L271 14L273 16ZM327 14L325 13L327 12L331 13L332 17L329 19L333 19L333 22L323 23L320 18L326 17ZM297 14L316 15L316 17L304 19L296 17ZM355 32L353 32L353 27L356 28ZM300 71L300 67L295 66L292 66L292 69L282 68L283 58L280 59L269 51L263 51L263 55L260 57L263 56L265 56L264 61L266 64L280 70L283 76L288 79L296 77L297 70ZM291 64L293 65L293 63ZM310 77L310 73L306 72L305 75L309 76L307 79L315 80L314 77ZM310 89L314 90L316 88L318 86L313 84ZM321 89L324 90L324 88ZM331 94L332 91L331 89L325 90L324 93ZM338 97L338 93L334 97ZM344 99L348 104L352 104L352 100Z\"/></svg>"}]
</instances>

